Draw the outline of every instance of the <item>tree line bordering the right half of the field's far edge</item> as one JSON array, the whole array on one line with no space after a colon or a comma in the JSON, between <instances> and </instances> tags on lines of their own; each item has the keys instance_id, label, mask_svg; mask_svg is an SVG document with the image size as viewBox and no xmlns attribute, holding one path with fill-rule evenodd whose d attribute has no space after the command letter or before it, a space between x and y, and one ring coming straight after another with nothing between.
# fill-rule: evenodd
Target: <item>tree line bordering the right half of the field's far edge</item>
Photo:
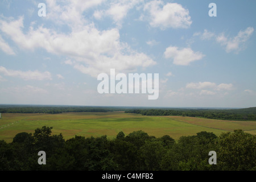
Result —
<instances>
[{"instance_id":1,"label":"tree line bordering the right half of the field's far edge","mask_svg":"<svg viewBox=\"0 0 256 182\"><path fill-rule=\"evenodd\" d=\"M125 113L142 115L180 115L188 117L202 117L210 119L247 120L256 121L254 113L240 113L236 110L167 110L167 109L129 109Z\"/></svg>"}]
</instances>

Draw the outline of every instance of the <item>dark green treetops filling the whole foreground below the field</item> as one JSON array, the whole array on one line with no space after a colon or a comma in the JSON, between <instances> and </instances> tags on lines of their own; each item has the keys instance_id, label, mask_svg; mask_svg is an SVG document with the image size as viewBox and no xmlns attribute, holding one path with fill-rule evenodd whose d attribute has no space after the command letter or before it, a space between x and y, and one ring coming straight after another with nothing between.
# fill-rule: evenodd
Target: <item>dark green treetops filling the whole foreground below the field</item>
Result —
<instances>
[{"instance_id":1,"label":"dark green treetops filling the whole foreground below the field","mask_svg":"<svg viewBox=\"0 0 256 182\"><path fill-rule=\"evenodd\" d=\"M113 139L75 136L64 140L61 134L51 135L51 130L44 126L34 134L16 134L11 143L0 140L0 170L256 170L256 136L242 130L220 137L201 131L177 141L141 130L128 135L121 131ZM46 152L45 165L38 163L39 151ZM209 151L216 151L217 164L209 164Z\"/></svg>"}]
</instances>

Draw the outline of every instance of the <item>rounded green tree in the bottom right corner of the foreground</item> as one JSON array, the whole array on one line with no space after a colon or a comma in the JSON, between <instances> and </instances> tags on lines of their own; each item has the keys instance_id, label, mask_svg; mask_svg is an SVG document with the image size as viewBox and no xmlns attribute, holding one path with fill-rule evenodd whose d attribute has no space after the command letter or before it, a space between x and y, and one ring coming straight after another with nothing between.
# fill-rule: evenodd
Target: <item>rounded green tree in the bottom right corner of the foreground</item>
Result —
<instances>
[{"instance_id":1,"label":"rounded green tree in the bottom right corner of the foreground","mask_svg":"<svg viewBox=\"0 0 256 182\"><path fill-rule=\"evenodd\" d=\"M256 136L242 130L222 133L217 152L217 164L222 170L256 169Z\"/></svg>"}]
</instances>

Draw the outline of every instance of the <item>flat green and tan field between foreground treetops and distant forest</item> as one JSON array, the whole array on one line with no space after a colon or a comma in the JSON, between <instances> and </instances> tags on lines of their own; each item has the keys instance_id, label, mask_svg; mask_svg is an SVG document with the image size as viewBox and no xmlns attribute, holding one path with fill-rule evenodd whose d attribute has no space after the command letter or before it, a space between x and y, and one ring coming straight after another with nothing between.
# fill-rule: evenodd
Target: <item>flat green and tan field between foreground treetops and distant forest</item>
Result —
<instances>
[{"instance_id":1,"label":"flat green and tan field between foreground treetops and distant forest","mask_svg":"<svg viewBox=\"0 0 256 182\"><path fill-rule=\"evenodd\" d=\"M63 134L65 140L78 136L116 137L119 131L126 135L142 130L148 135L162 137L170 135L174 139L196 135L200 131L221 133L242 129L256 134L255 121L223 121L177 116L144 116L120 112L108 113L62 113L62 114L2 114L0 119L0 140L12 142L16 134L34 133L36 128L53 127L53 134Z\"/></svg>"}]
</instances>

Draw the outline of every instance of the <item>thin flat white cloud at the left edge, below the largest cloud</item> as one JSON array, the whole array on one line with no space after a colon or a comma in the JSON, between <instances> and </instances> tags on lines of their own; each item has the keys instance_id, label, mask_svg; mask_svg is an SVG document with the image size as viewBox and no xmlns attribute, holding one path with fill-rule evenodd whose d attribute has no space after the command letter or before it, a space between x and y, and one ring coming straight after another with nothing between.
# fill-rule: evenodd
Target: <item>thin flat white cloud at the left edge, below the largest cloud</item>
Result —
<instances>
[{"instance_id":1,"label":"thin flat white cloud at the left edge, below the largest cloud","mask_svg":"<svg viewBox=\"0 0 256 182\"><path fill-rule=\"evenodd\" d=\"M0 67L0 73L11 77L20 77L23 80L52 80L51 73L49 72L39 72L39 71L15 71L11 69L6 69L5 67Z\"/></svg>"}]
</instances>

